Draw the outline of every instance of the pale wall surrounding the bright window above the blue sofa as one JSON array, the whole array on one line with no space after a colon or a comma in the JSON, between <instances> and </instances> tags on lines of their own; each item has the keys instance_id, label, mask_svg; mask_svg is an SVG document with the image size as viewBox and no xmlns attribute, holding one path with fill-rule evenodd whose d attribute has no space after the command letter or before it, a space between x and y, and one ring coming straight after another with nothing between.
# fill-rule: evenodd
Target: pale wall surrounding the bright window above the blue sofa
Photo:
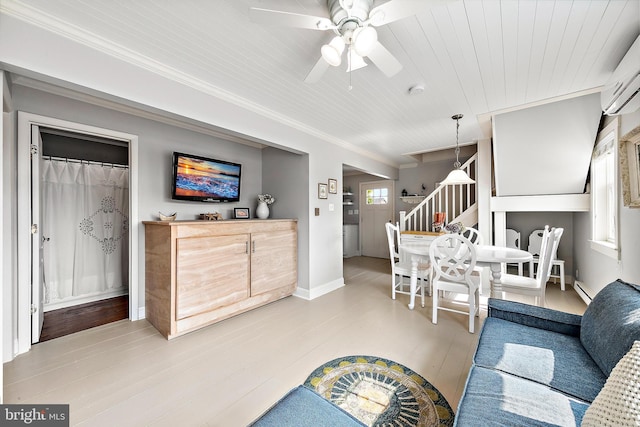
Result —
<instances>
[{"instance_id":1,"label":"pale wall surrounding the bright window above the blue sofa","mask_svg":"<svg viewBox=\"0 0 640 427\"><path fill-rule=\"evenodd\" d=\"M640 111L620 116L619 135L636 126L640 126ZM618 278L640 284L640 209L623 206L621 183L619 187L620 261L591 249L591 213L574 214L574 268L578 269L578 280L592 298Z\"/></svg>"}]
</instances>

